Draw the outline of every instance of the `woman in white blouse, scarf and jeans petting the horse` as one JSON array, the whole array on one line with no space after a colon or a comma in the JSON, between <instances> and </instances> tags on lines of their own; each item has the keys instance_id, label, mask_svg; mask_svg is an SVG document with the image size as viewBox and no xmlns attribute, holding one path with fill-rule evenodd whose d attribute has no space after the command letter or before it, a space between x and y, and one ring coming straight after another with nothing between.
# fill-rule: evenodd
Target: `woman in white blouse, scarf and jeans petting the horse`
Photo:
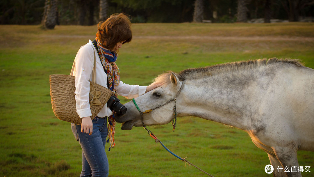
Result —
<instances>
[{"instance_id":1,"label":"woman in white blouse, scarf and jeans petting the horse","mask_svg":"<svg viewBox=\"0 0 314 177\"><path fill-rule=\"evenodd\" d=\"M109 165L105 152L108 127L114 125L112 110L107 105L95 119L91 120L89 107L89 80L92 80L94 53L96 56L96 83L117 94L132 99L156 88L156 85L127 85L120 80L115 63L118 49L132 40L131 22L126 15L113 14L105 22L98 24L96 41L90 41L80 48L75 57L75 99L81 125L72 125L74 137L82 147L82 172L80 176L108 176ZM97 48L96 48L96 47ZM98 52L97 50L98 49ZM114 146L111 138L111 147Z\"/></svg>"}]
</instances>

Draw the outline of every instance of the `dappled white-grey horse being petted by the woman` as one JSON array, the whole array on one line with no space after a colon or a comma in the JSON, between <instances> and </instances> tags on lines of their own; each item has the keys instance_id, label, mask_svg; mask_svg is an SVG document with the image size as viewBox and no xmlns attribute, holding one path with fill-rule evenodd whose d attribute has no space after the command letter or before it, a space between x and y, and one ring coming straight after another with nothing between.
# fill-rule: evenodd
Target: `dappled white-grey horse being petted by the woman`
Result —
<instances>
[{"instance_id":1,"label":"dappled white-grey horse being petted by the woman","mask_svg":"<svg viewBox=\"0 0 314 177\"><path fill-rule=\"evenodd\" d=\"M299 167L298 150L314 151L313 69L298 60L271 58L169 72L155 82L161 86L135 99L141 112L175 98L181 88L178 117L195 116L244 130L268 153L274 176L301 176L291 168ZM171 122L173 105L144 113L143 124ZM124 123L122 130L142 126L134 103L125 106L127 113L115 118ZM285 167L290 172L280 169Z\"/></svg>"}]
</instances>

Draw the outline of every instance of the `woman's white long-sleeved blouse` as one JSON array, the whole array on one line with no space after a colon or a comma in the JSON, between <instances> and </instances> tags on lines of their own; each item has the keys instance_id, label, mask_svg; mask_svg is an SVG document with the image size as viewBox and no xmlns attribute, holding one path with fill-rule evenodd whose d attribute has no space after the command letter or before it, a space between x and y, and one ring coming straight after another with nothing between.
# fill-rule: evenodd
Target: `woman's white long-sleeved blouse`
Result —
<instances>
[{"instance_id":1,"label":"woman's white long-sleeved blouse","mask_svg":"<svg viewBox=\"0 0 314 177\"><path fill-rule=\"evenodd\" d=\"M100 62L99 55L93 42L89 42L80 48L75 56L75 67L73 76L75 76L75 100L76 112L80 118L91 116L89 107L89 81L92 80L92 71L94 67L94 53L96 57L96 83L107 88L107 75ZM116 86L116 93L127 99L136 98L145 93L147 86L128 85L121 80ZM98 117L110 116L112 111L107 104L97 114Z\"/></svg>"}]
</instances>

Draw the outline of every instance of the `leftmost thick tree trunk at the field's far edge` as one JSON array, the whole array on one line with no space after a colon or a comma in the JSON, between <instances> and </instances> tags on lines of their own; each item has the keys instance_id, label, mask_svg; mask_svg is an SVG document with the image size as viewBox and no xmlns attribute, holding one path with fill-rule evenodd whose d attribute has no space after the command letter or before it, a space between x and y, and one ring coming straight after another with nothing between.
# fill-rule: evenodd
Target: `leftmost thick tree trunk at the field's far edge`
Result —
<instances>
[{"instance_id":1,"label":"leftmost thick tree trunk at the field's far edge","mask_svg":"<svg viewBox=\"0 0 314 177\"><path fill-rule=\"evenodd\" d=\"M58 0L46 0L41 24L46 29L54 29L57 25Z\"/></svg>"}]
</instances>

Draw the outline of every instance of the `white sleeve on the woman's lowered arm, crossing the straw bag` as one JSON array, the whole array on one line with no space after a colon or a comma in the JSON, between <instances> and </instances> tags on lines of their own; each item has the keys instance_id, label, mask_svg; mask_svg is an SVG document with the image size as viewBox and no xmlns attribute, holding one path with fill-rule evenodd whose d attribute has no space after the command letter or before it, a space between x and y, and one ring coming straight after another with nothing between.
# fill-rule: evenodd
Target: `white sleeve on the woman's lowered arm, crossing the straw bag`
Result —
<instances>
[{"instance_id":1,"label":"white sleeve on the woman's lowered arm, crossing the straw bag","mask_svg":"<svg viewBox=\"0 0 314 177\"><path fill-rule=\"evenodd\" d=\"M80 118L91 116L89 107L89 78L94 67L94 50L92 46L83 46L75 56L75 100L76 112Z\"/></svg>"}]
</instances>

